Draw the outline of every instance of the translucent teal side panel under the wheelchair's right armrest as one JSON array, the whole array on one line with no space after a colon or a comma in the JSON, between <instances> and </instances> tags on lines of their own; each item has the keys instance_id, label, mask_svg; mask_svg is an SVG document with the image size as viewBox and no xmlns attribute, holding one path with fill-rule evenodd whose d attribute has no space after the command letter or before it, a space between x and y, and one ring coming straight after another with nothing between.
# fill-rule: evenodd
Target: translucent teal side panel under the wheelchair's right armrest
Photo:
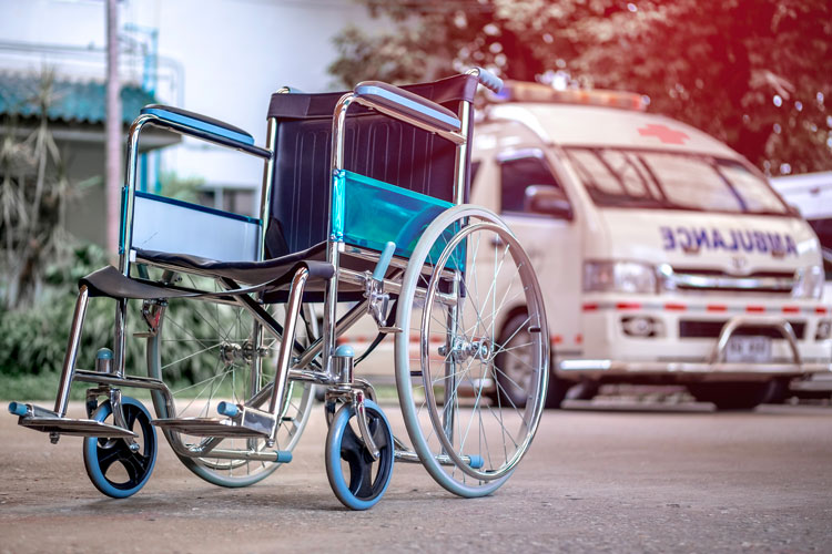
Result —
<instances>
[{"instance_id":1,"label":"translucent teal side panel under the wheelchair's right armrest","mask_svg":"<svg viewBox=\"0 0 832 554\"><path fill-rule=\"evenodd\" d=\"M333 198L341 197L337 202L343 206L343 213L333 209L333 229L343 217L343 240L353 246L381 252L392 240L396 243L396 255L409 258L427 226L453 206L449 202L364 175L339 173L343 173L339 175L343 181L334 183ZM333 207L335 203L333 199ZM456 230L447 230L448 239ZM437 260L444 246L437 243L429 257ZM463 269L465 243L460 243L458 249L459 255L451 256L448 265Z\"/></svg>"}]
</instances>

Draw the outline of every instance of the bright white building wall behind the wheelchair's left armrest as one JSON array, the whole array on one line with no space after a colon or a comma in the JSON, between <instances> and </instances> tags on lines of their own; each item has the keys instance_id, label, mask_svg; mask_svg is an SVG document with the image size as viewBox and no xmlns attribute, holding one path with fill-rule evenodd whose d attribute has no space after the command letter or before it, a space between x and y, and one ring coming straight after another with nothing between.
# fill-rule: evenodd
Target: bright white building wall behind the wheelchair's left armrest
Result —
<instances>
[{"instance_id":1,"label":"bright white building wall behind the wheelchair's left armrest","mask_svg":"<svg viewBox=\"0 0 832 554\"><path fill-rule=\"evenodd\" d=\"M160 102L243 127L261 145L270 94L283 85L332 90L332 38L348 23L379 24L352 0L123 0L120 23L123 49L138 52L122 55L123 80L141 81L142 48L155 29ZM14 51L20 43L61 48L27 54ZM102 0L0 0L0 70L48 64L102 79L104 47ZM252 188L262 178L255 160L190 140L165 148L160 168L209 188Z\"/></svg>"}]
</instances>

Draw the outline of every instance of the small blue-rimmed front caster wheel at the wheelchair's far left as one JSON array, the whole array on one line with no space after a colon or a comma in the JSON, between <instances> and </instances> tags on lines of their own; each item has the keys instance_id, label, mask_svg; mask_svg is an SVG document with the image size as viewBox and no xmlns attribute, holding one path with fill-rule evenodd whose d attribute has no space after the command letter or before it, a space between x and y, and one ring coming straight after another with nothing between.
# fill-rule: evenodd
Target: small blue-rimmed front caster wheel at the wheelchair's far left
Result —
<instances>
[{"instance_id":1,"label":"small blue-rimmed front caster wheel at the wheelchair's far left","mask_svg":"<svg viewBox=\"0 0 832 554\"><path fill-rule=\"evenodd\" d=\"M133 444L126 439L88 437L84 439L84 468L95 489L114 499L125 499L139 492L153 472L156 463L156 431L150 423L150 413L129 397L121 399L124 421L136 437ZM113 423L110 401L102 403L92 414L95 421ZM132 447L132 448L131 448Z\"/></svg>"}]
</instances>

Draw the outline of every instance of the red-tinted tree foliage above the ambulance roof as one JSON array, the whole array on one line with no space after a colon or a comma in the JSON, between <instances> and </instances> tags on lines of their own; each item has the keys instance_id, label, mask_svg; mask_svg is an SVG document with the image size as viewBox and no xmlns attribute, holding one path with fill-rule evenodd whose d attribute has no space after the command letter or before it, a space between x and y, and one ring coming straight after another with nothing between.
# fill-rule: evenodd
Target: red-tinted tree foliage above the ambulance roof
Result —
<instances>
[{"instance_id":1,"label":"red-tinted tree foliage above the ambulance roof","mask_svg":"<svg viewBox=\"0 0 832 554\"><path fill-rule=\"evenodd\" d=\"M407 82L501 76L632 90L771 174L832 170L828 0L364 0L390 32L347 28L331 72Z\"/></svg>"}]
</instances>

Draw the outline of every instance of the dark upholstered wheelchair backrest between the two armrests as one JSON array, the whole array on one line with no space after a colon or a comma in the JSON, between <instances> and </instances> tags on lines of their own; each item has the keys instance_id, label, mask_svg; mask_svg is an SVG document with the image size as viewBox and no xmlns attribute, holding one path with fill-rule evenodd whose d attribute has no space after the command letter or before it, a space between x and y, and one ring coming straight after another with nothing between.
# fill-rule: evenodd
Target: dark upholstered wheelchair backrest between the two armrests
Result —
<instances>
[{"instance_id":1,"label":"dark upholstered wheelchair backrest between the two armrests","mask_svg":"<svg viewBox=\"0 0 832 554\"><path fill-rule=\"evenodd\" d=\"M477 78L456 75L403 89L459 113L463 102L474 101ZM326 240L332 117L343 94L272 95L268 117L274 117L277 126L266 257L300 252ZM471 125L473 117L469 137ZM456 146L449 141L364 106L349 109L345 140L345 165L349 171L453 202L455 157ZM468 187L466 183L465 201Z\"/></svg>"}]
</instances>

